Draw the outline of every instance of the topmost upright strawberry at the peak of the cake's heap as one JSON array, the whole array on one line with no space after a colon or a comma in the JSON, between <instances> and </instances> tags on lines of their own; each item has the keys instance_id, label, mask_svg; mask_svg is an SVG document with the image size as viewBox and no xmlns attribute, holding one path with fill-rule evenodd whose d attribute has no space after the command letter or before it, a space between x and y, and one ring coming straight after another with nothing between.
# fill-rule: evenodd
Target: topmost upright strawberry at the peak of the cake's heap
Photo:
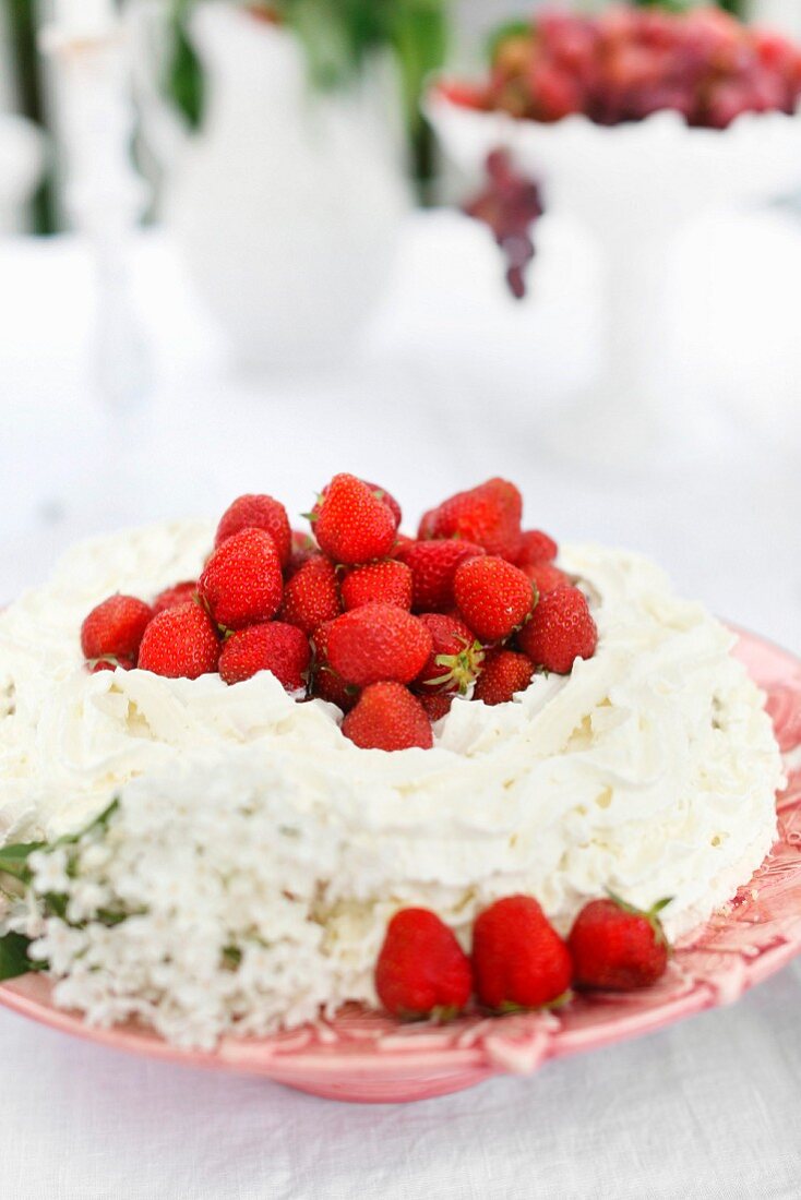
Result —
<instances>
[{"instance_id":1,"label":"topmost upright strawberry at the peak of the cake's heap","mask_svg":"<svg viewBox=\"0 0 801 1200\"><path fill-rule=\"evenodd\" d=\"M334 475L319 502L315 536L335 563L369 563L393 548L395 515L355 475Z\"/></svg>"}]
</instances>

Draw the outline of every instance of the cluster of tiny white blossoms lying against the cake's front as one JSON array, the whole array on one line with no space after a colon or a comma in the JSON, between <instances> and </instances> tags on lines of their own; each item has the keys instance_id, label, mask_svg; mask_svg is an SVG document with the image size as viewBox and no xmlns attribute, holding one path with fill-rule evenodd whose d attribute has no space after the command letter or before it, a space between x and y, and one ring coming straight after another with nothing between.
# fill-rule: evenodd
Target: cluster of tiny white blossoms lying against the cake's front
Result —
<instances>
[{"instance_id":1,"label":"cluster of tiny white blossoms lying against the cake's front","mask_svg":"<svg viewBox=\"0 0 801 1200\"><path fill-rule=\"evenodd\" d=\"M315 821L301 836L263 761L235 790L197 761L154 785L128 785L107 828L29 858L31 888L4 924L35 938L56 1003L201 1048L317 1016L336 990L318 881L341 838Z\"/></svg>"}]
</instances>

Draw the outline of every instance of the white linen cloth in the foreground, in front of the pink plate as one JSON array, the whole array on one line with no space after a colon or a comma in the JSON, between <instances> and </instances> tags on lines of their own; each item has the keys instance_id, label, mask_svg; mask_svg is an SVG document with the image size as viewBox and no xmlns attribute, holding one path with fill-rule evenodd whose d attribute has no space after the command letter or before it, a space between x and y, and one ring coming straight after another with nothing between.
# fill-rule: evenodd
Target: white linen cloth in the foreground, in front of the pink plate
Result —
<instances>
[{"instance_id":1,"label":"white linen cloth in the foreground, in front of the pink plate","mask_svg":"<svg viewBox=\"0 0 801 1200\"><path fill-rule=\"evenodd\" d=\"M456 1096L349 1105L0 1015L10 1200L794 1200L801 972Z\"/></svg>"}]
</instances>

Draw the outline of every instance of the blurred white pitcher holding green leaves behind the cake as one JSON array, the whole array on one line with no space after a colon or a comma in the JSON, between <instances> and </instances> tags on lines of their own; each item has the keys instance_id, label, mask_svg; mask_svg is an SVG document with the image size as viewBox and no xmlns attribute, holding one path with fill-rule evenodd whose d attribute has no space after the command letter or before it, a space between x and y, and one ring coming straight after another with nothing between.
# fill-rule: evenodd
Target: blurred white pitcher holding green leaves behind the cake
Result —
<instances>
[{"instance_id":1,"label":"blurred white pitcher holding green leaves behind the cake","mask_svg":"<svg viewBox=\"0 0 801 1200\"><path fill-rule=\"evenodd\" d=\"M159 12L133 10L151 66ZM389 64L319 95L297 38L246 10L209 0L190 32L205 72L199 132L179 133L145 89L165 222L240 364L339 358L381 298L410 205Z\"/></svg>"}]
</instances>

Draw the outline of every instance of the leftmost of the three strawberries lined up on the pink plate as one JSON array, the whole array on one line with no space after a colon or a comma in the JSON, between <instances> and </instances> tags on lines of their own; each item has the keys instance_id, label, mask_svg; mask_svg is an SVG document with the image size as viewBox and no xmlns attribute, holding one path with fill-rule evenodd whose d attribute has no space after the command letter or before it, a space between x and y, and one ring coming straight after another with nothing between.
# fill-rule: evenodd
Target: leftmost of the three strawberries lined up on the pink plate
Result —
<instances>
[{"instance_id":1,"label":"leftmost of the three strawberries lined up on the pink plate","mask_svg":"<svg viewBox=\"0 0 801 1200\"><path fill-rule=\"evenodd\" d=\"M470 959L428 908L404 908L387 926L376 991L393 1016L455 1016L470 1000Z\"/></svg>"}]
</instances>

